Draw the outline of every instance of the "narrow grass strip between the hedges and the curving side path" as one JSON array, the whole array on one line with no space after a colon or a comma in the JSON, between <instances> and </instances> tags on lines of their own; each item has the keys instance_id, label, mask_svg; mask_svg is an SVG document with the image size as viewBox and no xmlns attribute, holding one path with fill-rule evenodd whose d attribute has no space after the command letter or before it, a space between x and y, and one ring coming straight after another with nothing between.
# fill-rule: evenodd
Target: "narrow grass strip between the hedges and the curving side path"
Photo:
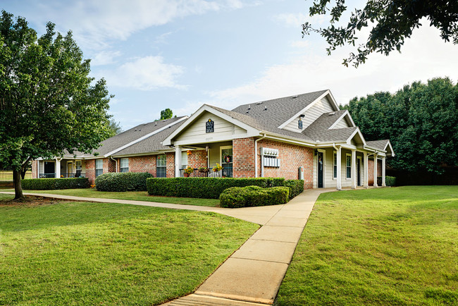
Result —
<instances>
[{"instance_id":1,"label":"narrow grass strip between the hedges and the curving side path","mask_svg":"<svg viewBox=\"0 0 458 306\"><path fill-rule=\"evenodd\" d=\"M13 191L13 190L10 190ZM104 199L137 200L159 203L185 204L218 207L218 199L195 199L192 197L156 197L146 191L108 192L96 189L63 189L63 190L24 190L24 192L52 193L54 195L74 195L75 197L101 197Z\"/></svg>"}]
</instances>

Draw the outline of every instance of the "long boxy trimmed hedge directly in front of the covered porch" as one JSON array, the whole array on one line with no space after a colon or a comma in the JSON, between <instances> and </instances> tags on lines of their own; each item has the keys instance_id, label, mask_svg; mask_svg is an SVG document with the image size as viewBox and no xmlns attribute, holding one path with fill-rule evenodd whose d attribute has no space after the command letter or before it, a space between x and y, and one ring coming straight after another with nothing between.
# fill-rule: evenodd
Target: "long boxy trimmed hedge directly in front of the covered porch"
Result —
<instances>
[{"instance_id":1,"label":"long boxy trimmed hedge directly in front of the covered porch","mask_svg":"<svg viewBox=\"0 0 458 306\"><path fill-rule=\"evenodd\" d=\"M148 178L147 191L149 195L166 197L218 199L223 190L231 187L255 185L267 188L283 186L284 183L285 178Z\"/></svg>"}]
</instances>

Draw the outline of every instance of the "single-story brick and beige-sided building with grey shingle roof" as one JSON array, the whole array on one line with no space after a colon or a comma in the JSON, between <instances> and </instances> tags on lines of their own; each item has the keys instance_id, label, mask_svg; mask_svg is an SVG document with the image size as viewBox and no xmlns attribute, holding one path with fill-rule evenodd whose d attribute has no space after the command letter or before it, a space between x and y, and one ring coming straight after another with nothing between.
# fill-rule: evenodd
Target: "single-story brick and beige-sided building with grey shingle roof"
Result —
<instances>
[{"instance_id":1,"label":"single-story brick and beige-sided building with grey shingle roof","mask_svg":"<svg viewBox=\"0 0 458 306\"><path fill-rule=\"evenodd\" d=\"M35 178L149 172L155 177L304 179L304 188L385 185L390 140L366 141L329 90L237 106L204 104L192 116L145 123L104 142L94 154L32 163ZM374 162L375 161L375 162ZM212 171L217 165L223 169ZM185 171L187 169L187 171ZM209 169L209 170L206 170Z\"/></svg>"}]
</instances>

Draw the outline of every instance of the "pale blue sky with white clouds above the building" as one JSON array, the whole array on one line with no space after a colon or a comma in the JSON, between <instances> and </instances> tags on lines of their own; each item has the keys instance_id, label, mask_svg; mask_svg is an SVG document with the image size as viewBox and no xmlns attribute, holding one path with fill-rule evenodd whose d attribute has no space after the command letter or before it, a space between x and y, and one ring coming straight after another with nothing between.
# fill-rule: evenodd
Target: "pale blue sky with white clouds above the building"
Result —
<instances>
[{"instance_id":1,"label":"pale blue sky with white clouds above the building","mask_svg":"<svg viewBox=\"0 0 458 306\"><path fill-rule=\"evenodd\" d=\"M346 2L362 8L365 1ZM161 110L190 116L202 104L240 104L329 89L338 104L414 81L458 80L458 46L445 43L427 20L402 53L371 54L345 67L351 47L326 53L319 35L302 38L311 0L1 0L44 34L47 22L68 30L91 59L91 76L105 78L110 111L126 130L154 121ZM365 30L361 39L367 35Z\"/></svg>"}]
</instances>

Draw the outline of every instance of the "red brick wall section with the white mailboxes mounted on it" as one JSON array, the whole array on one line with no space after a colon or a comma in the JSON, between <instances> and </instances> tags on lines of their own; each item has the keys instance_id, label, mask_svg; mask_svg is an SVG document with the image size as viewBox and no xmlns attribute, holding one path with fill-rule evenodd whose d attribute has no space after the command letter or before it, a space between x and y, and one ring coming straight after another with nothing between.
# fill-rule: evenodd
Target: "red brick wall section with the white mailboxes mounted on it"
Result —
<instances>
[{"instance_id":1,"label":"red brick wall section with the white mailboxes mounted on it","mask_svg":"<svg viewBox=\"0 0 458 306\"><path fill-rule=\"evenodd\" d=\"M299 167L304 167L304 188L314 187L314 149L290 145L273 140L259 140L258 142L258 176L261 176L261 156L260 147L278 149L278 159L280 167L264 167L264 177L286 178L287 180L297 180L299 178Z\"/></svg>"}]
</instances>

